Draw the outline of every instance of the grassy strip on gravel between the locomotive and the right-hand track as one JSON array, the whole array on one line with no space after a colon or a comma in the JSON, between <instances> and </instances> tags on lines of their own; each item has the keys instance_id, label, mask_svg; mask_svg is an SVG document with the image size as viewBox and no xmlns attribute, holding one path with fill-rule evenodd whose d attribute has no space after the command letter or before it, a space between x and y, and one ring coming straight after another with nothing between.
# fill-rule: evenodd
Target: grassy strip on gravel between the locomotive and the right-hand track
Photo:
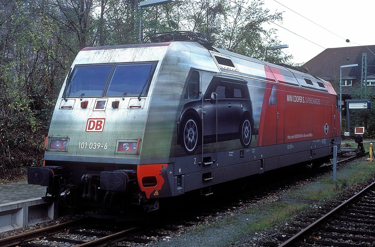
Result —
<instances>
[{"instance_id":1,"label":"grassy strip on gravel between the locomotive and the right-hand track","mask_svg":"<svg viewBox=\"0 0 375 247\"><path fill-rule=\"evenodd\" d=\"M362 183L375 174L375 161L371 164L364 157L361 161L337 171L337 181L333 182L332 174L321 177L315 182L308 183L300 188L286 192L286 198L314 200L319 205L320 200L337 197L340 192L354 183ZM229 246L238 242L245 235L254 234L287 222L291 217L309 208L309 204L293 204L269 202L255 205L240 212L228 214L224 219L214 220L207 225L199 225L192 234L205 235L212 233L212 229L232 232L223 234L217 240L216 246ZM230 231L228 231L230 229ZM235 229L233 231L233 229Z\"/></svg>"}]
</instances>

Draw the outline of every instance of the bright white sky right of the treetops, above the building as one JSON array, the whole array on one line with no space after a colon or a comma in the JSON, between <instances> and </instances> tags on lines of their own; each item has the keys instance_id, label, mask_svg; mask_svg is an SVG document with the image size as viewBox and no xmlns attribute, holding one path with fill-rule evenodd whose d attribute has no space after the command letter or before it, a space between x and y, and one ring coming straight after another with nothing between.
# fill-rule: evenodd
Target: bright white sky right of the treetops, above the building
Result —
<instances>
[{"instance_id":1,"label":"bright white sky right of the treetops, above the building","mask_svg":"<svg viewBox=\"0 0 375 247\"><path fill-rule=\"evenodd\" d=\"M277 29L276 35L280 44L289 46L283 49L283 52L293 55L291 59L293 64L303 64L327 48L375 44L374 0L263 0L263 2L264 7L271 12L283 12L281 23L275 22L278 25L271 23L265 28ZM346 39L350 42L347 43Z\"/></svg>"}]
</instances>

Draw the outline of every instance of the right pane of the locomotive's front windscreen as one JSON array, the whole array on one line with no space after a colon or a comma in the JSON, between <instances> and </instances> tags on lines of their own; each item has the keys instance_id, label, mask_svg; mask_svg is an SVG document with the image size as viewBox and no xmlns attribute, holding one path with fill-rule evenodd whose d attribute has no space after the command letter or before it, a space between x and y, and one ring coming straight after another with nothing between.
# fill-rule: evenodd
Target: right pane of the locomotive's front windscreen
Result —
<instances>
[{"instance_id":1,"label":"right pane of the locomotive's front windscreen","mask_svg":"<svg viewBox=\"0 0 375 247\"><path fill-rule=\"evenodd\" d=\"M105 96L147 96L156 62L116 64Z\"/></svg>"}]
</instances>

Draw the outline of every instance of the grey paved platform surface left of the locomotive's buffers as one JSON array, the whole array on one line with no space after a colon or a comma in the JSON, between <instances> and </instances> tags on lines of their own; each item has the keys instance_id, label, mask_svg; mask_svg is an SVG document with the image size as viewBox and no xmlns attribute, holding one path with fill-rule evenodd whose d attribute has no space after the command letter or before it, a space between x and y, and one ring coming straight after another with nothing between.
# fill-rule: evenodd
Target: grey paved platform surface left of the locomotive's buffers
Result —
<instances>
[{"instance_id":1,"label":"grey paved platform surface left of the locomotive's buffers","mask_svg":"<svg viewBox=\"0 0 375 247\"><path fill-rule=\"evenodd\" d=\"M15 201L41 198L45 196L46 187L31 185L27 181L0 184L0 205Z\"/></svg>"}]
</instances>

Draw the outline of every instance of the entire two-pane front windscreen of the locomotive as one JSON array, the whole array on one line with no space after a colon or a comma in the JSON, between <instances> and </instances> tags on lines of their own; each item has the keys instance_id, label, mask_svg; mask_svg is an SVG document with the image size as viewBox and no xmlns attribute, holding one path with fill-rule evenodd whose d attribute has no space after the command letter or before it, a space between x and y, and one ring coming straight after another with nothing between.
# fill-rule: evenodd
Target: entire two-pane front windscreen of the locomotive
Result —
<instances>
[{"instance_id":1,"label":"entire two-pane front windscreen of the locomotive","mask_svg":"<svg viewBox=\"0 0 375 247\"><path fill-rule=\"evenodd\" d=\"M155 67L156 62L76 65L64 97L147 96Z\"/></svg>"}]
</instances>

